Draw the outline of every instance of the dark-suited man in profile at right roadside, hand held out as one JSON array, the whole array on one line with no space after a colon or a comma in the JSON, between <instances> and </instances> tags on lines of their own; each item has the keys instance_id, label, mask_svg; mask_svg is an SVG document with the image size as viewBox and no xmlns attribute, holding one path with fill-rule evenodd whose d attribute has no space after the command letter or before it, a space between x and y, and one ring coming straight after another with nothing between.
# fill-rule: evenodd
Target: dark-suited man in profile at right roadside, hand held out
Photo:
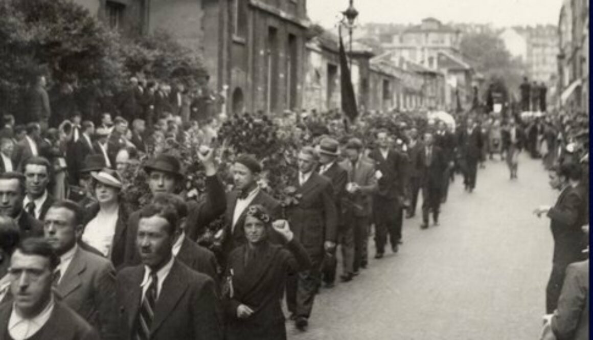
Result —
<instances>
[{"instance_id":1,"label":"dark-suited man in profile at right roadside, hand held out","mask_svg":"<svg viewBox=\"0 0 593 340\"><path fill-rule=\"evenodd\" d=\"M562 290L566 267L572 262L584 260L583 231L586 206L585 188L579 185L582 171L578 164L562 164L556 171L550 171L550 186L560 190L554 206L540 206L534 214L546 214L554 237L552 271L546 287L546 313L554 312Z\"/></svg>"}]
</instances>

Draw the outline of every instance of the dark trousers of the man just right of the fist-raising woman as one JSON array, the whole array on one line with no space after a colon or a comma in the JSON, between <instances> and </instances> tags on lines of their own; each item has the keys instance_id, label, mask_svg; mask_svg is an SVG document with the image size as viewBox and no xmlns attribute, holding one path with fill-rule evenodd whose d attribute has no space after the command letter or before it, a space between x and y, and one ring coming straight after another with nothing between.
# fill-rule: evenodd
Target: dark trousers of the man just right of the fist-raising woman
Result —
<instances>
[{"instance_id":1,"label":"dark trousers of the man just right of the fist-raising woman","mask_svg":"<svg viewBox=\"0 0 593 340\"><path fill-rule=\"evenodd\" d=\"M315 294L321 284L321 262L323 250L309 253L311 269L288 275L286 278L286 305L296 316L309 317L313 310Z\"/></svg>"}]
</instances>

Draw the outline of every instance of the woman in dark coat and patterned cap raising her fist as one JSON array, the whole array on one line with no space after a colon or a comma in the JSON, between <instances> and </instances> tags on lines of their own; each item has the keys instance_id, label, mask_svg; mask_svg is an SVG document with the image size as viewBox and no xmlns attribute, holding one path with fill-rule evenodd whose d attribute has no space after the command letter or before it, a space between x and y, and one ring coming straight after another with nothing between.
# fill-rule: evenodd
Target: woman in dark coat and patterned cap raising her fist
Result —
<instances>
[{"instance_id":1,"label":"woman in dark coat and patterned cap raising her fist","mask_svg":"<svg viewBox=\"0 0 593 340\"><path fill-rule=\"evenodd\" d=\"M288 222L272 223L262 205L247 208L243 228L247 244L231 252L225 271L226 339L286 339L280 307L286 274L309 268L311 260L293 238ZM269 242L273 232L286 241L284 246Z\"/></svg>"}]
</instances>

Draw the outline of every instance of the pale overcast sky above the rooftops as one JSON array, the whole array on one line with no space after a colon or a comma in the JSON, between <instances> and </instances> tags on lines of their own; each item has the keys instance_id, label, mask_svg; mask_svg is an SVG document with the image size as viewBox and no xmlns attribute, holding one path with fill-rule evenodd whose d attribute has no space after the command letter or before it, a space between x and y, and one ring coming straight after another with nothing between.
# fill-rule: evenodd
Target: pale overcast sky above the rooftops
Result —
<instances>
[{"instance_id":1,"label":"pale overcast sky above the rooftops","mask_svg":"<svg viewBox=\"0 0 593 340\"><path fill-rule=\"evenodd\" d=\"M314 23L336 24L348 0L308 0ZM558 24L562 0L354 0L361 24L418 24L435 17L444 23L492 23L494 26Z\"/></svg>"}]
</instances>

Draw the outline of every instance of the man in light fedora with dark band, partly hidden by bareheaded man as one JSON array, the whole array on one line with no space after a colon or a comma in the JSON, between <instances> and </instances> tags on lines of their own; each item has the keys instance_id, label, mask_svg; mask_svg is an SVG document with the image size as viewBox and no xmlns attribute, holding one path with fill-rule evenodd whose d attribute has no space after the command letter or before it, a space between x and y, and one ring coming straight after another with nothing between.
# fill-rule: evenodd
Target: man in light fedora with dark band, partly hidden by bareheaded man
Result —
<instances>
[{"instance_id":1,"label":"man in light fedora with dark band, partly hidden by bareheaded man","mask_svg":"<svg viewBox=\"0 0 593 340\"><path fill-rule=\"evenodd\" d=\"M339 142L333 138L321 139L318 147L319 167L318 171L321 176L327 177L331 180L333 187L334 202L336 202L337 211L337 233L338 235L343 231L344 218L342 211L342 199L346 192L346 183L348 182L348 173L338 163L340 155ZM339 236L338 236L339 238ZM335 252L327 253L323 259L323 282L326 288L331 288L336 281L337 260Z\"/></svg>"}]
</instances>

